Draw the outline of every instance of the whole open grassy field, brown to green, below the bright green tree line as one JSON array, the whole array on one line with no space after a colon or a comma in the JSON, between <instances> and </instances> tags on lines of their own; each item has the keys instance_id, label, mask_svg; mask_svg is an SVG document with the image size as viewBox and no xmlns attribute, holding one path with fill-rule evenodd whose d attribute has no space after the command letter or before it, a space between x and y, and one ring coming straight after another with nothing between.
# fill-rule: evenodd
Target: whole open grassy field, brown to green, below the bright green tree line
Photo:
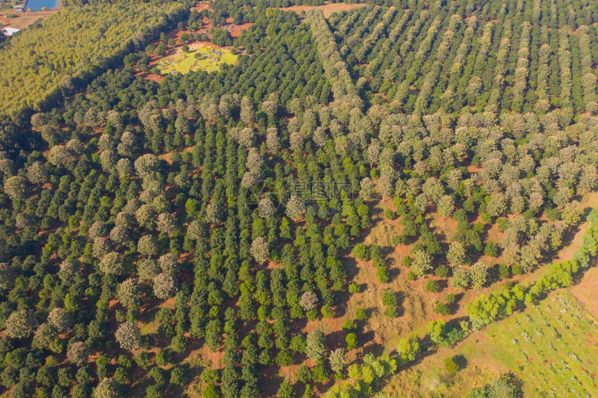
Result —
<instances>
[{"instance_id":1,"label":"whole open grassy field, brown to green, below the bright green tree line","mask_svg":"<svg viewBox=\"0 0 598 398\"><path fill-rule=\"evenodd\" d=\"M462 397L512 371L527 397L596 397L598 324L569 290L553 292L538 306L512 315L469 336L453 349L440 349L407 372L399 372L384 392L389 396ZM444 359L462 368L444 372Z\"/></svg>"}]
</instances>

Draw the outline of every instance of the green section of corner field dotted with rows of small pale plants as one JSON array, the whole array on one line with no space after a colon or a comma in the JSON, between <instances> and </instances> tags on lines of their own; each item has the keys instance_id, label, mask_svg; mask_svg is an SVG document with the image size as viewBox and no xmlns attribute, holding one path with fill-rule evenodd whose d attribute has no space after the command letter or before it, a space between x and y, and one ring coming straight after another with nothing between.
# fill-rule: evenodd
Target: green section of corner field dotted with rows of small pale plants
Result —
<instances>
[{"instance_id":1,"label":"green section of corner field dotted with rows of small pale plants","mask_svg":"<svg viewBox=\"0 0 598 398\"><path fill-rule=\"evenodd\" d=\"M568 291L492 326L494 358L519 372L528 395L596 396L598 328Z\"/></svg>"}]
</instances>

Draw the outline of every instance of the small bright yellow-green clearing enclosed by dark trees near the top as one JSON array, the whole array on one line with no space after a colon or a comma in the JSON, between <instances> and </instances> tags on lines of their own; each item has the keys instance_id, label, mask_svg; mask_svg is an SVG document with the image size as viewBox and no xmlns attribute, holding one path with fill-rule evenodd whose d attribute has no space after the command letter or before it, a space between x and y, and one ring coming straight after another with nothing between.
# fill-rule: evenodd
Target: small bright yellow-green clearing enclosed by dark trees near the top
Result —
<instances>
[{"instance_id":1,"label":"small bright yellow-green clearing enclosed by dark trees near the top","mask_svg":"<svg viewBox=\"0 0 598 398\"><path fill-rule=\"evenodd\" d=\"M188 53L177 49L170 56L159 61L157 67L161 74L179 72L186 74L189 71L202 69L206 72L214 72L222 64L234 64L237 56L230 50L208 47L200 44L191 48Z\"/></svg>"}]
</instances>

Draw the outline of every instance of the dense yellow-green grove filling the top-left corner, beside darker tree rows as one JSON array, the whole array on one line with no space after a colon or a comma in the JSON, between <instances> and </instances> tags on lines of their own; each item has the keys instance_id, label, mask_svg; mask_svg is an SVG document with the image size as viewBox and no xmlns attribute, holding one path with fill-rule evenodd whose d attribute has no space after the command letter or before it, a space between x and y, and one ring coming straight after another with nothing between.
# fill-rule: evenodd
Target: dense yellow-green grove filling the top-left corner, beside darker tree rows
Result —
<instances>
[{"instance_id":1,"label":"dense yellow-green grove filling the top-left corner, beside darker tree rows","mask_svg":"<svg viewBox=\"0 0 598 398\"><path fill-rule=\"evenodd\" d=\"M179 4L118 1L67 8L33 24L0 50L0 113L37 110L59 94L65 75L96 76L129 53L134 40L144 44L145 32L155 35L182 15Z\"/></svg>"}]
</instances>

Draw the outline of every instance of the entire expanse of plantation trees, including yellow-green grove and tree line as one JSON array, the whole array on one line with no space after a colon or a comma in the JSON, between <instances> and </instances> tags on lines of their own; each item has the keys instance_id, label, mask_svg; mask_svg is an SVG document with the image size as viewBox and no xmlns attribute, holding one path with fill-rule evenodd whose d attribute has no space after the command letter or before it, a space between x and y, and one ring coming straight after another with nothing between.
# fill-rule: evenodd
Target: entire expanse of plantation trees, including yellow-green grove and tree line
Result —
<instances>
[{"instance_id":1,"label":"entire expanse of plantation trees, including yellow-green grove and tree line","mask_svg":"<svg viewBox=\"0 0 598 398\"><path fill-rule=\"evenodd\" d=\"M0 392L366 397L593 264L595 3L83 3L0 47ZM252 24L235 65L139 76L160 33L228 17ZM380 202L401 264L364 244ZM366 352L371 311L401 303L346 317L349 258L475 298ZM511 375L470 396L506 390L522 396Z\"/></svg>"}]
</instances>

